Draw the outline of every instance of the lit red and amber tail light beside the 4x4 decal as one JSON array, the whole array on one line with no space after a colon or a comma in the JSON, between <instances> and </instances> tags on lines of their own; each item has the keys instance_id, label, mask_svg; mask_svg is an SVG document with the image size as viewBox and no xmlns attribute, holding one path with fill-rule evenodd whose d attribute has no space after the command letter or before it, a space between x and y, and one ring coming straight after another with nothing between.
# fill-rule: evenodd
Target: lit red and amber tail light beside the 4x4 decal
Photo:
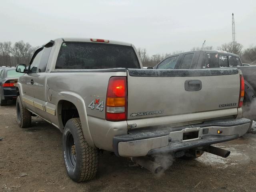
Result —
<instances>
[{"instance_id":1,"label":"lit red and amber tail light beside the 4x4 decal","mask_svg":"<svg viewBox=\"0 0 256 192\"><path fill-rule=\"evenodd\" d=\"M127 81L126 77L111 77L106 96L106 120L127 120Z\"/></svg>"}]
</instances>

